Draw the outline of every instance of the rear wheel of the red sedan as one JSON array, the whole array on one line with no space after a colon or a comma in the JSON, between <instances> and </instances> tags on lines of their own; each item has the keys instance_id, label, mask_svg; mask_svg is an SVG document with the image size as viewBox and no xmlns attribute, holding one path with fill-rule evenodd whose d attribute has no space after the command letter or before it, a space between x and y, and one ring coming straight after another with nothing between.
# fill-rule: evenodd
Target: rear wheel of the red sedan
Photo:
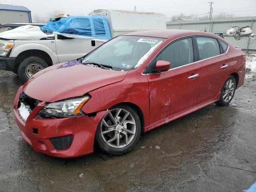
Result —
<instances>
[{"instance_id":1,"label":"rear wheel of the red sedan","mask_svg":"<svg viewBox=\"0 0 256 192\"><path fill-rule=\"evenodd\" d=\"M215 102L217 105L226 106L231 102L236 91L236 79L229 76L221 90L220 100Z\"/></svg>"}]
</instances>

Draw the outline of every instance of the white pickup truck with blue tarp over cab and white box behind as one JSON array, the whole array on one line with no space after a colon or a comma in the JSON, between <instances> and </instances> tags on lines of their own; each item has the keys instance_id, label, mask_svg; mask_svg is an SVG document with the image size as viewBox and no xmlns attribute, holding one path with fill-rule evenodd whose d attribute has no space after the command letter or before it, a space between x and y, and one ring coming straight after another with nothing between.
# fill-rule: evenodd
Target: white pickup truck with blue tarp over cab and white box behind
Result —
<instances>
[{"instance_id":1,"label":"white pickup truck with blue tarp over cab and white box behind","mask_svg":"<svg viewBox=\"0 0 256 192\"><path fill-rule=\"evenodd\" d=\"M101 16L100 29L93 15ZM157 13L94 10L89 16L69 17L74 19L70 28L65 24L66 31L61 30L64 25L54 25L57 28L51 31L26 25L0 33L0 70L12 71L26 81L43 68L80 58L120 34L166 29L164 15Z\"/></svg>"}]
</instances>

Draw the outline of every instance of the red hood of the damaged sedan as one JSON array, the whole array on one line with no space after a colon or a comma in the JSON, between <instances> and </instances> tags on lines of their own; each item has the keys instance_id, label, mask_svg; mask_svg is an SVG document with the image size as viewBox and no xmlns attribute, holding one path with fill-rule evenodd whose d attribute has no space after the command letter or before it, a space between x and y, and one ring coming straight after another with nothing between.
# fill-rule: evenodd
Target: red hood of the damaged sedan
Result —
<instances>
[{"instance_id":1,"label":"red hood of the damaged sedan","mask_svg":"<svg viewBox=\"0 0 256 192\"><path fill-rule=\"evenodd\" d=\"M36 73L24 84L24 92L37 100L55 102L122 81L127 73L86 66L74 60Z\"/></svg>"}]
</instances>

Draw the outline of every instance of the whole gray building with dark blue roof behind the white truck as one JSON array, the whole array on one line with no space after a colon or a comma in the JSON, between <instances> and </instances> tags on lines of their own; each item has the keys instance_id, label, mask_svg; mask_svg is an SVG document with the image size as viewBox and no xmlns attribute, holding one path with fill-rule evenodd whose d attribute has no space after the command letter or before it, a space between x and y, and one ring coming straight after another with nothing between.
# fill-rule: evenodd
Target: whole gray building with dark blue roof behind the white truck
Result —
<instances>
[{"instance_id":1,"label":"whole gray building with dark blue roof behind the white truck","mask_svg":"<svg viewBox=\"0 0 256 192\"><path fill-rule=\"evenodd\" d=\"M0 24L32 23L31 11L24 6L0 4Z\"/></svg>"}]
</instances>

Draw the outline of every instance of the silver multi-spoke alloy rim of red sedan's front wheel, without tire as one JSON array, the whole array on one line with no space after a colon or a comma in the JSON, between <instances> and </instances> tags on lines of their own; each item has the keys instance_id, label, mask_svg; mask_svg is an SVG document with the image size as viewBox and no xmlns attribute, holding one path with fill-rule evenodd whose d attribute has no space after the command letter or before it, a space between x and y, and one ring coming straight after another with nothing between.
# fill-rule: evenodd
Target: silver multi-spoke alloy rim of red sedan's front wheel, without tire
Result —
<instances>
[{"instance_id":1,"label":"silver multi-spoke alloy rim of red sedan's front wheel, without tire","mask_svg":"<svg viewBox=\"0 0 256 192\"><path fill-rule=\"evenodd\" d=\"M110 110L102 119L101 136L111 147L123 148L130 144L136 133L136 122L130 112L122 108Z\"/></svg>"}]
</instances>

